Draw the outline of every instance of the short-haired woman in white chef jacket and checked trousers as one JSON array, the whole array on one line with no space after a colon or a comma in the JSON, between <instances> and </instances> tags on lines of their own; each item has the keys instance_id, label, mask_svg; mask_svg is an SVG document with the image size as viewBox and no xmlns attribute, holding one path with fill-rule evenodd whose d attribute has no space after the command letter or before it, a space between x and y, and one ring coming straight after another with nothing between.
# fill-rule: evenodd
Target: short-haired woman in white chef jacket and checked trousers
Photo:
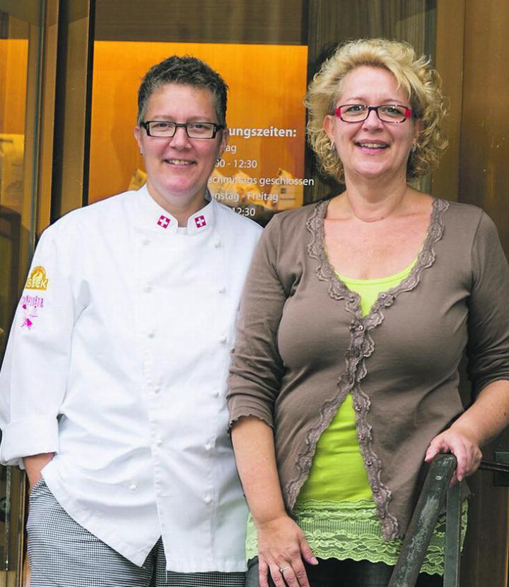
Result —
<instances>
[{"instance_id":1,"label":"short-haired woman in white chef jacket and checked trousers","mask_svg":"<svg viewBox=\"0 0 509 587\"><path fill-rule=\"evenodd\" d=\"M139 88L147 182L43 233L0 375L32 587L242 586L224 399L259 227L210 197L226 90L192 57Z\"/></svg>"}]
</instances>

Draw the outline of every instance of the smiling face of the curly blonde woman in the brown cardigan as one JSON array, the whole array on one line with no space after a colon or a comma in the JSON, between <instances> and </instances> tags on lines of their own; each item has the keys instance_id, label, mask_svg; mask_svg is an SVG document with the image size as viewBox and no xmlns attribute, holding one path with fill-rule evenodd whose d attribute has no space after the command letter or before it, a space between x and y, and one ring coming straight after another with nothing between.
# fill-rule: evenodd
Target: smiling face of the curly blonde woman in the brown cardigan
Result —
<instances>
[{"instance_id":1,"label":"smiling face of the curly blonde woman in the brown cardigan","mask_svg":"<svg viewBox=\"0 0 509 587\"><path fill-rule=\"evenodd\" d=\"M345 104L409 106L409 98L387 69L360 66L343 78L334 107ZM324 129L336 146L346 182L356 177L406 182L406 162L419 134L419 123L413 117L391 124L382 122L372 110L365 121L349 123L327 114Z\"/></svg>"}]
</instances>

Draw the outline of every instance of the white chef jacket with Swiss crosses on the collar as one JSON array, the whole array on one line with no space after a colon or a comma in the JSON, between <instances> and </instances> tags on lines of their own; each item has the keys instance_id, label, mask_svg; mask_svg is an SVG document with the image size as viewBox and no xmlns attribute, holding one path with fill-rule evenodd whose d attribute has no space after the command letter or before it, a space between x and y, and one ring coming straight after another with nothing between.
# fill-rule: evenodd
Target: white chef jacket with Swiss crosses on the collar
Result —
<instances>
[{"instance_id":1,"label":"white chef jacket with Swiss crosses on the collar","mask_svg":"<svg viewBox=\"0 0 509 587\"><path fill-rule=\"evenodd\" d=\"M187 230L148 194L73 211L35 251L0 374L0 458L42 475L134 564L245 569L245 499L226 432L235 319L261 229L212 200Z\"/></svg>"}]
</instances>

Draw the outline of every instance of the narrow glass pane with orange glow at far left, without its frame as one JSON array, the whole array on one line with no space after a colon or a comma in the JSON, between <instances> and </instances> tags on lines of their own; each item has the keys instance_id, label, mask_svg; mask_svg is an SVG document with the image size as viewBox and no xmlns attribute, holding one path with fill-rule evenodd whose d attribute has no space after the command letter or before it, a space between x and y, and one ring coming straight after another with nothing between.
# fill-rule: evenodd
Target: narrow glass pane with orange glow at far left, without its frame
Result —
<instances>
[{"instance_id":1,"label":"narrow glass pane with orange glow at far left, without its frame","mask_svg":"<svg viewBox=\"0 0 509 587\"><path fill-rule=\"evenodd\" d=\"M30 25L0 11L0 360L28 269L33 202L25 177ZM30 159L30 158L28 158ZM25 476L0 466L0 584L21 580Z\"/></svg>"}]
</instances>

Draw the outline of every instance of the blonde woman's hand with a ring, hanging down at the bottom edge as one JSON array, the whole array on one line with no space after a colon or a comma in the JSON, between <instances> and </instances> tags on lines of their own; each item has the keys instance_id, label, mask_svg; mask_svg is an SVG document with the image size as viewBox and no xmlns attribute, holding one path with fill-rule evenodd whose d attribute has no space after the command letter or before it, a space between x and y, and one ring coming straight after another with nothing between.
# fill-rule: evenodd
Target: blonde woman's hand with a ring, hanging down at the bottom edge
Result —
<instances>
[{"instance_id":1,"label":"blonde woman's hand with a ring, hanging down at the bottom edge","mask_svg":"<svg viewBox=\"0 0 509 587\"><path fill-rule=\"evenodd\" d=\"M318 561L296 522L284 514L256 526L260 587L269 587L269 573L276 587L310 587L303 559L309 564Z\"/></svg>"}]
</instances>

